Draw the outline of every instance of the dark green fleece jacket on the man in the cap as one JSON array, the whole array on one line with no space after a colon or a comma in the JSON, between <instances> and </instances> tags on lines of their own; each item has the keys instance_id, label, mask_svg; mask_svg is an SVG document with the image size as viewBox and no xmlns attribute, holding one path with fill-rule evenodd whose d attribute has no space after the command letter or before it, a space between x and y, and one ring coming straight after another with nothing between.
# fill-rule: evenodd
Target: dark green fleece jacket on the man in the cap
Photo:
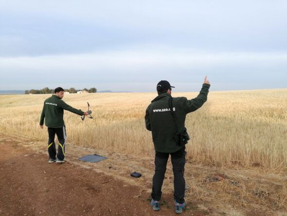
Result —
<instances>
[{"instance_id":1,"label":"dark green fleece jacket on the man in the cap","mask_svg":"<svg viewBox=\"0 0 287 216\"><path fill-rule=\"evenodd\" d=\"M184 97L173 98L173 110L179 133L184 129L186 114L196 111L207 100L210 84L203 84L199 95L191 100ZM171 95L164 93L154 98L145 111L145 127L152 133L157 152L174 153L183 146L176 145L174 135L177 132L175 122L169 110Z\"/></svg>"}]
</instances>

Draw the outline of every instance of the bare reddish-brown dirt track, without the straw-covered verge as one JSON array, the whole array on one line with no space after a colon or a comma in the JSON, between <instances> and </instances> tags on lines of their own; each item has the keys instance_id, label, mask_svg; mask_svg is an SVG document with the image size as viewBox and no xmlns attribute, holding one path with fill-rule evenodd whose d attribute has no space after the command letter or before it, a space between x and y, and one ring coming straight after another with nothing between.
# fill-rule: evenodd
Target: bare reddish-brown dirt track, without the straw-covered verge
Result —
<instances>
[{"instance_id":1,"label":"bare reddish-brown dirt track, without the straw-covered verge","mask_svg":"<svg viewBox=\"0 0 287 216\"><path fill-rule=\"evenodd\" d=\"M77 163L48 164L47 154L1 134L0 215L174 214L172 195L164 197L168 201L155 214L145 189Z\"/></svg>"}]
</instances>

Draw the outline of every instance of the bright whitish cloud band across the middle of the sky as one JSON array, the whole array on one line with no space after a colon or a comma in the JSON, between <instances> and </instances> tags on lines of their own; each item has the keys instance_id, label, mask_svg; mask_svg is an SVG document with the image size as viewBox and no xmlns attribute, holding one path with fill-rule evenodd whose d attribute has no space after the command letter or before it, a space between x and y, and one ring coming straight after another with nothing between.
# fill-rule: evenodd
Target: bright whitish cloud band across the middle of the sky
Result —
<instances>
[{"instance_id":1,"label":"bright whitish cloud band across the middle of the sky","mask_svg":"<svg viewBox=\"0 0 287 216\"><path fill-rule=\"evenodd\" d=\"M153 47L154 50L155 47ZM0 58L2 69L31 70L142 70L148 68L174 67L189 69L199 67L285 66L287 53L282 52L208 52L159 48L137 50L111 50L70 55L47 55L37 57Z\"/></svg>"}]
</instances>

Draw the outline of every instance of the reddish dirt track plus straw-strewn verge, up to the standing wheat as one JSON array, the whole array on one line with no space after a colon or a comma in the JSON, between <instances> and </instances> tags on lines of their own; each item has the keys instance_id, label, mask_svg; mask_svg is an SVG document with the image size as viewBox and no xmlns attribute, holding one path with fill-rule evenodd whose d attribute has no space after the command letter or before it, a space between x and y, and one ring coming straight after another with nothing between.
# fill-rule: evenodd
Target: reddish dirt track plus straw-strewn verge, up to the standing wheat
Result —
<instances>
[{"instance_id":1,"label":"reddish dirt track plus straw-strewn verge, up to the standing wheat","mask_svg":"<svg viewBox=\"0 0 287 216\"><path fill-rule=\"evenodd\" d=\"M85 163L99 154L108 159ZM0 215L176 215L168 162L160 212L150 202L154 158L77 146L64 164L48 164L43 140L0 133ZM185 166L188 209L182 215L286 216L287 172L194 164ZM143 174L130 177L131 172ZM213 180L214 177L218 180ZM209 180L207 180L209 179Z\"/></svg>"}]
</instances>

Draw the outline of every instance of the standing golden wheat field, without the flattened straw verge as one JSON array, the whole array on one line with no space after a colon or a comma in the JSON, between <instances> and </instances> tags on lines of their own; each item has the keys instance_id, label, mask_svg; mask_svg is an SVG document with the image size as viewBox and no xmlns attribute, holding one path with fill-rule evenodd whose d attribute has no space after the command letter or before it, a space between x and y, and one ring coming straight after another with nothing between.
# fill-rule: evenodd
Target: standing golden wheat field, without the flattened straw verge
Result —
<instances>
[{"instance_id":1,"label":"standing golden wheat field, without the flattened straw verge","mask_svg":"<svg viewBox=\"0 0 287 216\"><path fill-rule=\"evenodd\" d=\"M197 92L172 93L195 98ZM68 94L63 100L93 119L65 111L68 142L134 155L154 155L144 113L156 93ZM0 96L0 130L46 140L38 122L50 95ZM197 163L281 170L287 166L287 89L210 92L207 102L186 118L191 137L187 157Z\"/></svg>"}]
</instances>

